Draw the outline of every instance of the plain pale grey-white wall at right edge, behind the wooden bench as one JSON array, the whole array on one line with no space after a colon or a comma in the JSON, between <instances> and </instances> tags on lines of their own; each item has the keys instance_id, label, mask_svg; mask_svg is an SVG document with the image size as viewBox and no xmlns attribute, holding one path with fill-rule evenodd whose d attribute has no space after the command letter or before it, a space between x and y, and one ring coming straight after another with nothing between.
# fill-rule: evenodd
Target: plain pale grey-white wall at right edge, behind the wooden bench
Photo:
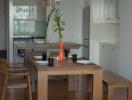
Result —
<instances>
[{"instance_id":1,"label":"plain pale grey-white wall at right edge, behind the wooden bench","mask_svg":"<svg viewBox=\"0 0 132 100\"><path fill-rule=\"evenodd\" d=\"M132 0L120 0L119 74L132 80Z\"/></svg>"}]
</instances>

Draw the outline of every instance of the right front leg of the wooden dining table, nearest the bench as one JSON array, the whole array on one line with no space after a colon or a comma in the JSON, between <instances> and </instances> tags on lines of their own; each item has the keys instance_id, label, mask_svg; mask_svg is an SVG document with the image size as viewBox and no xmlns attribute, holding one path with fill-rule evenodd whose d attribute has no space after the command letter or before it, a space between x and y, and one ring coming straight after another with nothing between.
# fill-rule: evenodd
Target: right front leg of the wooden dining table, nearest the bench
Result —
<instances>
[{"instance_id":1,"label":"right front leg of the wooden dining table, nearest the bench","mask_svg":"<svg viewBox=\"0 0 132 100\"><path fill-rule=\"evenodd\" d=\"M102 71L93 75L93 100L102 100Z\"/></svg>"}]
</instances>

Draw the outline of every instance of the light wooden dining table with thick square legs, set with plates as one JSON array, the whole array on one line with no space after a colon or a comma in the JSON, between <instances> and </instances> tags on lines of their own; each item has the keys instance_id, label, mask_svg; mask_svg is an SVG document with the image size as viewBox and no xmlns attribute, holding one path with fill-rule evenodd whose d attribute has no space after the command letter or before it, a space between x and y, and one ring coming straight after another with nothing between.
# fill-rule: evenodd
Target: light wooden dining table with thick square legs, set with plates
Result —
<instances>
[{"instance_id":1,"label":"light wooden dining table with thick square legs, set with plates","mask_svg":"<svg viewBox=\"0 0 132 100\"><path fill-rule=\"evenodd\" d=\"M37 71L37 100L48 100L48 76L50 75L93 75L93 93L92 100L102 100L102 68L94 64L79 64L65 60L61 64L36 65L34 68Z\"/></svg>"}]
</instances>

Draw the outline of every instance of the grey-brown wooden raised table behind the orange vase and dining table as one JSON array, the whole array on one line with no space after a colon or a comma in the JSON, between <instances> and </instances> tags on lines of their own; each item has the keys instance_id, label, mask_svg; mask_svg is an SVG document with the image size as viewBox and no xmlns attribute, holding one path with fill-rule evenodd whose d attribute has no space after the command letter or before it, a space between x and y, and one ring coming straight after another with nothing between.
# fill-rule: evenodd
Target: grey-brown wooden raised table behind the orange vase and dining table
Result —
<instances>
[{"instance_id":1,"label":"grey-brown wooden raised table behind the orange vase and dining table","mask_svg":"<svg viewBox=\"0 0 132 100\"><path fill-rule=\"evenodd\" d=\"M23 49L24 50L24 64L27 64L28 56L31 52L44 52L48 49L58 49L59 42L47 42L47 43L35 43L35 42L17 42L14 43L15 47L17 49ZM79 49L81 47L81 44L74 43L74 42L64 42L64 49Z\"/></svg>"}]
</instances>

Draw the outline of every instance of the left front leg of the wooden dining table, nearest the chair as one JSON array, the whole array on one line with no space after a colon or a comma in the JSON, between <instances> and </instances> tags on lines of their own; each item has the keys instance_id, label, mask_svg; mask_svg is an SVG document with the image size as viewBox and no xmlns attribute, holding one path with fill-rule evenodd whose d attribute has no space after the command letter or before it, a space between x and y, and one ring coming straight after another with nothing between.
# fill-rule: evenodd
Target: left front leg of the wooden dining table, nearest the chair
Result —
<instances>
[{"instance_id":1,"label":"left front leg of the wooden dining table, nearest the chair","mask_svg":"<svg viewBox=\"0 0 132 100\"><path fill-rule=\"evenodd\" d=\"M48 75L38 73L38 96L37 100L48 100Z\"/></svg>"}]
</instances>

